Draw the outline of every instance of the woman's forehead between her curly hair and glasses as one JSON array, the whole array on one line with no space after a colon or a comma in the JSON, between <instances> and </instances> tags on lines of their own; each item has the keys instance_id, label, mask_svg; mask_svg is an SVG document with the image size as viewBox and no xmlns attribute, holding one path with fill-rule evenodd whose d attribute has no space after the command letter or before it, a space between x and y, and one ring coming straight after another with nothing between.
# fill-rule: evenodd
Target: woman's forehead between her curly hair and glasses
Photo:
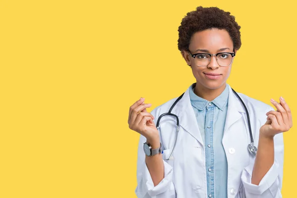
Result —
<instances>
[{"instance_id":1,"label":"woman's forehead between her curly hair and glasses","mask_svg":"<svg viewBox=\"0 0 297 198\"><path fill-rule=\"evenodd\" d=\"M208 49L210 51L221 48L233 49L233 42L226 30L207 29L196 32L190 41L189 49Z\"/></svg>"}]
</instances>

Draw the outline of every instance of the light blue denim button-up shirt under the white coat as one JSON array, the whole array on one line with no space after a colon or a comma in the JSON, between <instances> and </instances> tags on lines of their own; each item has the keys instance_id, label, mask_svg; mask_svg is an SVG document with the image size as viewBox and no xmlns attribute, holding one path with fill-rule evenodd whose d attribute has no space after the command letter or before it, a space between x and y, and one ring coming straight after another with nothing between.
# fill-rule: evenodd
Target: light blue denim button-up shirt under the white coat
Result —
<instances>
[{"instance_id":1,"label":"light blue denim button-up shirt under the white coat","mask_svg":"<svg viewBox=\"0 0 297 198\"><path fill-rule=\"evenodd\" d=\"M228 108L229 85L212 101L198 97L190 88L190 99L205 147L207 195L227 198L228 165L222 139Z\"/></svg>"}]
</instances>

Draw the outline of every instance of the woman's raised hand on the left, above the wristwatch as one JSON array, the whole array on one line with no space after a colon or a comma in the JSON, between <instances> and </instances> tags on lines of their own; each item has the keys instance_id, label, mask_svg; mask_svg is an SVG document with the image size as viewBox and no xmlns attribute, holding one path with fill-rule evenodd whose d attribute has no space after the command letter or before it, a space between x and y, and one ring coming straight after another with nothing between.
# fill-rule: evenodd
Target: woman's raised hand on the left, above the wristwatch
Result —
<instances>
[{"instance_id":1,"label":"woman's raised hand on the left, above the wristwatch","mask_svg":"<svg viewBox=\"0 0 297 198\"><path fill-rule=\"evenodd\" d=\"M148 142L153 141L159 145L159 132L153 122L154 117L146 109L151 104L146 104L144 101L145 99L141 98L130 106L129 128L146 137Z\"/></svg>"}]
</instances>

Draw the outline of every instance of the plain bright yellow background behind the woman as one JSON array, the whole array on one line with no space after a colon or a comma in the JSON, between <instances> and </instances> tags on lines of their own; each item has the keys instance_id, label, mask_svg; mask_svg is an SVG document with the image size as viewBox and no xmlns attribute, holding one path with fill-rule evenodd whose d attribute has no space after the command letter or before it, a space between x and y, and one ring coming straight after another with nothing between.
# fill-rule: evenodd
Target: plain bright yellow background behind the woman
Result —
<instances>
[{"instance_id":1,"label":"plain bright yellow background behind the woman","mask_svg":"<svg viewBox=\"0 0 297 198\"><path fill-rule=\"evenodd\" d=\"M296 2L0 0L0 198L136 197L129 106L180 96L195 79L177 49L197 6L242 26L228 83L296 102ZM296 195L296 130L284 134L283 197ZM290 196L291 195L291 196Z\"/></svg>"}]
</instances>

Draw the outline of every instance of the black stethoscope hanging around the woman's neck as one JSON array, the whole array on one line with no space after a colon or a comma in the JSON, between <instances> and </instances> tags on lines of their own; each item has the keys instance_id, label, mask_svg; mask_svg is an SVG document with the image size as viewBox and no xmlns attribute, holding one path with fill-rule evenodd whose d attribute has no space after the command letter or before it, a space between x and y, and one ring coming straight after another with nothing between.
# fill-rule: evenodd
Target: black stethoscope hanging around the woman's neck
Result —
<instances>
[{"instance_id":1,"label":"black stethoscope hanging around the woman's neck","mask_svg":"<svg viewBox=\"0 0 297 198\"><path fill-rule=\"evenodd\" d=\"M232 88L231 88L232 89ZM249 136L250 136L250 144L247 145L247 150L249 151L249 153L253 156L256 156L256 152L257 152L257 148L254 146L254 142L253 142L253 137L252 137L252 132L251 132L251 126L250 126L250 120L249 120L249 114L248 114L248 110L247 110L247 106L245 104L245 102L240 98L240 96L232 89L233 93L240 99L241 103L244 105L245 109L246 109L246 113L247 113L247 122L248 122L248 130L249 130ZM173 149L170 153L170 156L168 159L166 160L170 160L170 159L173 159L172 158L172 154L174 152L174 149L176 147L176 143L177 143L177 137L178 137L178 131L179 131L179 119L177 117L177 115L171 113L173 107L176 105L176 103L184 96L185 93L183 93L180 97L178 97L178 99L175 100L175 102L172 104L172 106L170 107L168 113L163 113L159 116L158 120L157 120L157 125L156 125L156 128L159 129L160 126L159 126L159 123L160 123L160 120L163 116L165 115L169 115L169 116L172 116L172 117L175 117L176 118L176 125L177 125L177 129L176 129L176 137L175 137L175 141L174 141L174 146L173 146ZM160 131L160 135L161 135L161 131Z\"/></svg>"}]
</instances>

